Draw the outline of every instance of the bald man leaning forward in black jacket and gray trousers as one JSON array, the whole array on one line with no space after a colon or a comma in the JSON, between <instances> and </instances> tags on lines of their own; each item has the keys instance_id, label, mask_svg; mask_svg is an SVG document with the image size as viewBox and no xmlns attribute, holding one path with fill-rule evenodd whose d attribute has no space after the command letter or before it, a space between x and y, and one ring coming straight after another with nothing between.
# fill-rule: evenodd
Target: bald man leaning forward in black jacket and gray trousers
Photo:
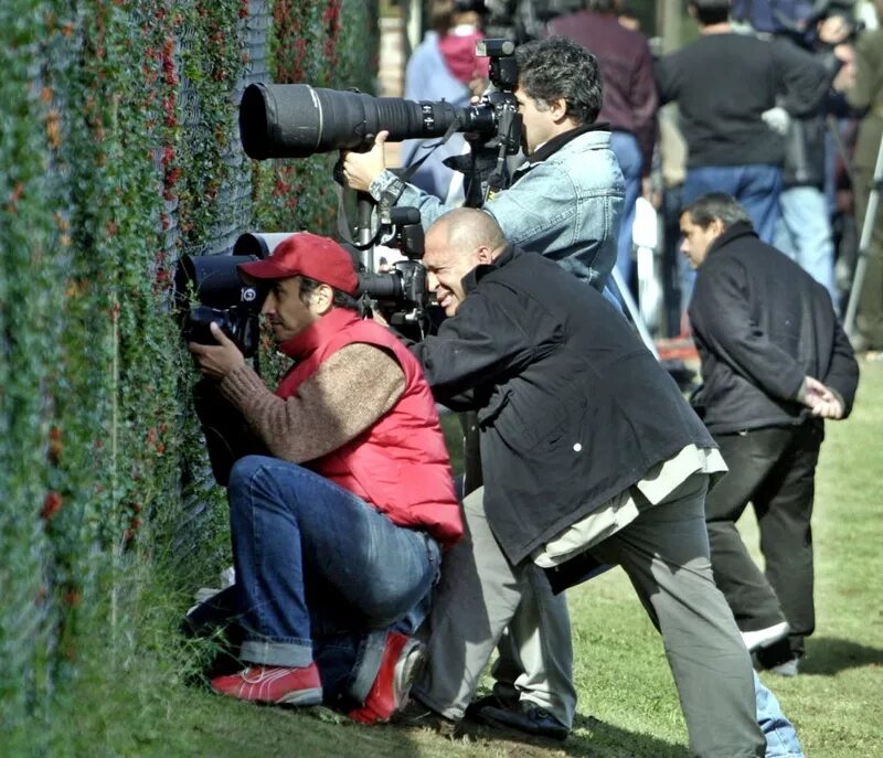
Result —
<instances>
[{"instance_id":1,"label":"bald man leaning forward in black jacket and gray trousers","mask_svg":"<svg viewBox=\"0 0 883 758\"><path fill-rule=\"evenodd\" d=\"M529 568L564 589L597 559L623 566L662 633L692 754L763 756L709 563L704 498L724 467L674 382L599 292L507 245L489 214L439 218L423 263L449 318L413 350L438 399L478 412L485 485L446 556L415 698L461 718Z\"/></svg>"}]
</instances>

